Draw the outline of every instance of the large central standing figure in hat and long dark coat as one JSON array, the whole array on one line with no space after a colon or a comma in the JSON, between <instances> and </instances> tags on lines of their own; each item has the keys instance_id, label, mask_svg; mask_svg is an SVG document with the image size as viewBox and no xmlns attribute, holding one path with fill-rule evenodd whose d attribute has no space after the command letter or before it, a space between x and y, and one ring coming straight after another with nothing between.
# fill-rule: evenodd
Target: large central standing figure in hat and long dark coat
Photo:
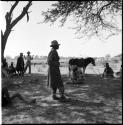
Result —
<instances>
[{"instance_id":1,"label":"large central standing figure in hat and long dark coat","mask_svg":"<svg viewBox=\"0 0 123 125\"><path fill-rule=\"evenodd\" d=\"M54 100L58 100L58 99L65 99L64 96L64 85L63 85L63 81L61 79L61 73L60 73L60 63L59 63L59 56L57 53L57 49L59 49L59 45L58 42L56 40L53 40L51 42L50 47L52 47L51 51L49 52L48 55L48 85L51 87L52 91L53 91L53 96L52 98ZM60 98L58 98L56 96L56 91L57 89L59 89L59 93L60 93Z\"/></svg>"}]
</instances>

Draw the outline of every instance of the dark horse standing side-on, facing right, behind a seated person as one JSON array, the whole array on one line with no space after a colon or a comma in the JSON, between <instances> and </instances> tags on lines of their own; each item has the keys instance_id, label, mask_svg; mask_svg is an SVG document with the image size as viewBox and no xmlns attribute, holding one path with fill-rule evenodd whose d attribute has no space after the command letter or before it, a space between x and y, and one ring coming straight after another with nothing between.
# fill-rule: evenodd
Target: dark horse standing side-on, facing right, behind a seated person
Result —
<instances>
[{"instance_id":1,"label":"dark horse standing side-on, facing right, behind a seated person","mask_svg":"<svg viewBox=\"0 0 123 125\"><path fill-rule=\"evenodd\" d=\"M88 64L93 64L95 66L95 59L94 58L91 58L91 57L88 57L88 58L74 58L74 59L70 59L69 60L69 77L70 77L70 72L72 71L72 66L77 66L79 68L83 68L83 76L85 74L85 69L87 67Z\"/></svg>"}]
</instances>

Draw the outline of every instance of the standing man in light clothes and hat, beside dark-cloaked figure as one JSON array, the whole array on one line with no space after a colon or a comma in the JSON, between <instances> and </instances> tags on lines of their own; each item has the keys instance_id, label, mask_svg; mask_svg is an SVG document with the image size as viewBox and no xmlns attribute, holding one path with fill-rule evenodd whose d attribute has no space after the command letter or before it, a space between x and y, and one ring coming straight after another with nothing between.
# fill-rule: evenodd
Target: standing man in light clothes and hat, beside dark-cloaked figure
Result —
<instances>
[{"instance_id":1,"label":"standing man in light clothes and hat, beside dark-cloaked figure","mask_svg":"<svg viewBox=\"0 0 123 125\"><path fill-rule=\"evenodd\" d=\"M27 56L24 56L24 58L27 60L24 72L26 72L27 68L29 67L29 74L31 74L31 60L33 59L33 57L30 55L30 52L28 51Z\"/></svg>"}]
</instances>

